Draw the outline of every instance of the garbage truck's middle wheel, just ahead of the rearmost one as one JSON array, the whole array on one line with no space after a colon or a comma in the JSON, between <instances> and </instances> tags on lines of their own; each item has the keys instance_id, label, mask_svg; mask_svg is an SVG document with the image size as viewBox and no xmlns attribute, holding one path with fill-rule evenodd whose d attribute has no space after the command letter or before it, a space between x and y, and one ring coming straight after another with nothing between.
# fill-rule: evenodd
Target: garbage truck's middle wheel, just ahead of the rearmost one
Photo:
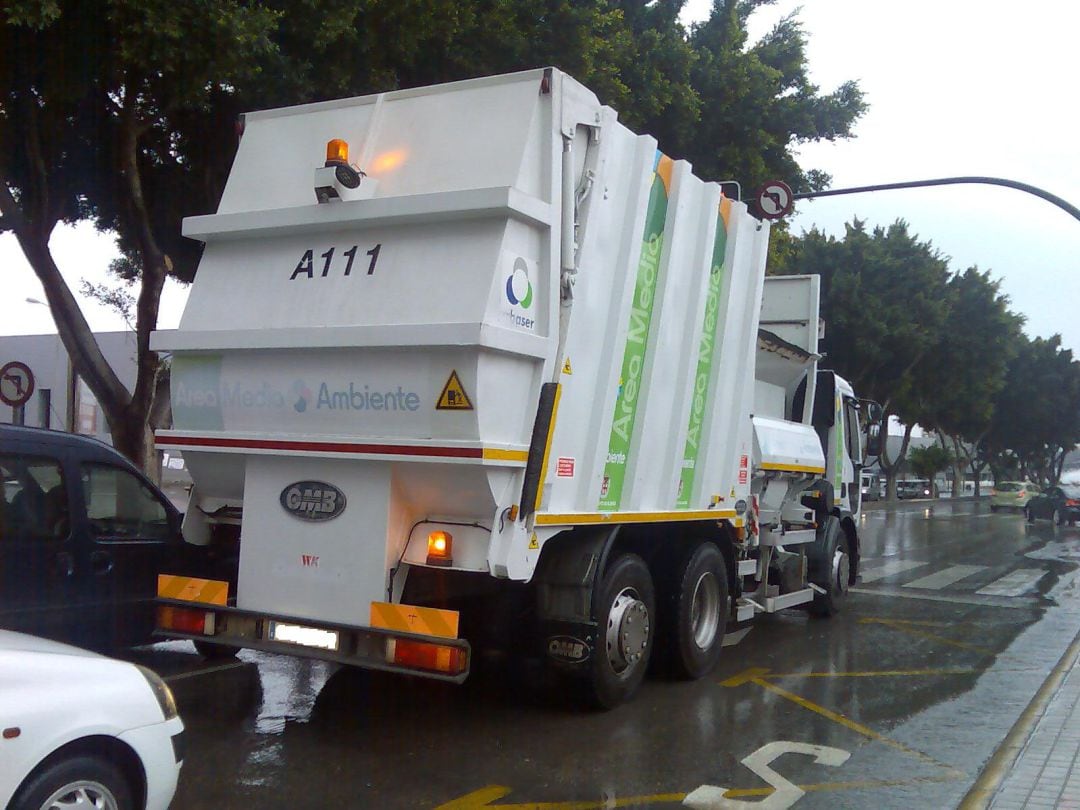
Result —
<instances>
[{"instance_id":1,"label":"garbage truck's middle wheel, just ahead of the rearmost one","mask_svg":"<svg viewBox=\"0 0 1080 810\"><path fill-rule=\"evenodd\" d=\"M720 659L727 626L728 571L715 543L689 551L660 588L659 634L656 654L662 672L696 680Z\"/></svg>"}]
</instances>

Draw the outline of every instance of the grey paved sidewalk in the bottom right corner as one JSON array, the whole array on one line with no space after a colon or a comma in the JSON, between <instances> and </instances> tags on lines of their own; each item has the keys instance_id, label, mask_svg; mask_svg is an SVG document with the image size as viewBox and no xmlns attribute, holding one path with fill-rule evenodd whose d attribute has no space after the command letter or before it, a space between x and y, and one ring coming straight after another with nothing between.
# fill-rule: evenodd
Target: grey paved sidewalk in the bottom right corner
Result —
<instances>
[{"instance_id":1,"label":"grey paved sidewalk in the bottom right corner","mask_svg":"<svg viewBox=\"0 0 1080 810\"><path fill-rule=\"evenodd\" d=\"M1080 636L1063 656L1058 667L1035 697L1014 727L1028 720L1035 728L1026 740L1011 740L1011 732L987 766L984 777L997 779L989 808L997 810L1080 810ZM1071 663L1070 663L1071 659ZM1064 679L1059 680L1064 675ZM1058 683L1055 685L1055 680ZM1055 688L1056 686L1056 688ZM1045 690L1045 691L1044 691ZM1045 702L1049 699L1049 703ZM1042 704L1042 705L1040 705ZM1040 714L1040 708L1044 711ZM1010 748L1018 754L1011 759ZM1003 778L1002 778L1003 777ZM983 782L981 778L978 780Z\"/></svg>"}]
</instances>

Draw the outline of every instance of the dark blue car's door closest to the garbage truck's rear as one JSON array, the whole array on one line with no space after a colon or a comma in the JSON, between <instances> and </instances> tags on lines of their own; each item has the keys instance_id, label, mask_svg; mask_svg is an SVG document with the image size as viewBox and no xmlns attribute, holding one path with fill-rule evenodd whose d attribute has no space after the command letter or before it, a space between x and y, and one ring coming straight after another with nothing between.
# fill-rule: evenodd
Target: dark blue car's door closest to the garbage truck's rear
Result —
<instances>
[{"instance_id":1,"label":"dark blue car's door closest to the garbage truck's rear","mask_svg":"<svg viewBox=\"0 0 1080 810\"><path fill-rule=\"evenodd\" d=\"M145 644L158 575L170 570L179 544L170 510L137 475L107 462L80 464L80 484L96 631L110 644Z\"/></svg>"}]
</instances>

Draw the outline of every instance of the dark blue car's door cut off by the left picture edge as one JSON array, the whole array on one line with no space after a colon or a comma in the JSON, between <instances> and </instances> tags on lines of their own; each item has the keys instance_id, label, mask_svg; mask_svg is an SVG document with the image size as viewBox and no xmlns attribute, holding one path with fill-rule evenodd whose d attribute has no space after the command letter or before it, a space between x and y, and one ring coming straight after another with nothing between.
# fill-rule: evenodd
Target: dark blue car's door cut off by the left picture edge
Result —
<instances>
[{"instance_id":1,"label":"dark blue car's door cut off by the left picture edge","mask_svg":"<svg viewBox=\"0 0 1080 810\"><path fill-rule=\"evenodd\" d=\"M70 482L59 457L31 454L0 454L0 626L78 644L87 617Z\"/></svg>"}]
</instances>

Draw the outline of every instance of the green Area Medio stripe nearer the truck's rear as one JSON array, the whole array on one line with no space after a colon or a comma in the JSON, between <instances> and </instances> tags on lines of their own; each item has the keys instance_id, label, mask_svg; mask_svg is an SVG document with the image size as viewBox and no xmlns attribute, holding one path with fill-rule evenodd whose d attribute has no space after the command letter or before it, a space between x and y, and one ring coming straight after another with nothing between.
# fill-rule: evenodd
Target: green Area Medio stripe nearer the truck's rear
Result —
<instances>
[{"instance_id":1,"label":"green Area Medio stripe nearer the truck's rear","mask_svg":"<svg viewBox=\"0 0 1080 810\"><path fill-rule=\"evenodd\" d=\"M660 153L657 152L659 163ZM622 353L619 394L615 403L611 436L608 440L607 463L600 487L598 509L611 512L622 502L622 485L630 457L630 440L634 435L634 420L642 393L645 352L649 345L652 325L652 305L656 300L657 279L660 273L660 253L664 246L664 221L667 219L667 191L653 165L652 189L645 215L645 235L642 240L642 258L637 262L637 281L630 309L630 327Z\"/></svg>"}]
</instances>

